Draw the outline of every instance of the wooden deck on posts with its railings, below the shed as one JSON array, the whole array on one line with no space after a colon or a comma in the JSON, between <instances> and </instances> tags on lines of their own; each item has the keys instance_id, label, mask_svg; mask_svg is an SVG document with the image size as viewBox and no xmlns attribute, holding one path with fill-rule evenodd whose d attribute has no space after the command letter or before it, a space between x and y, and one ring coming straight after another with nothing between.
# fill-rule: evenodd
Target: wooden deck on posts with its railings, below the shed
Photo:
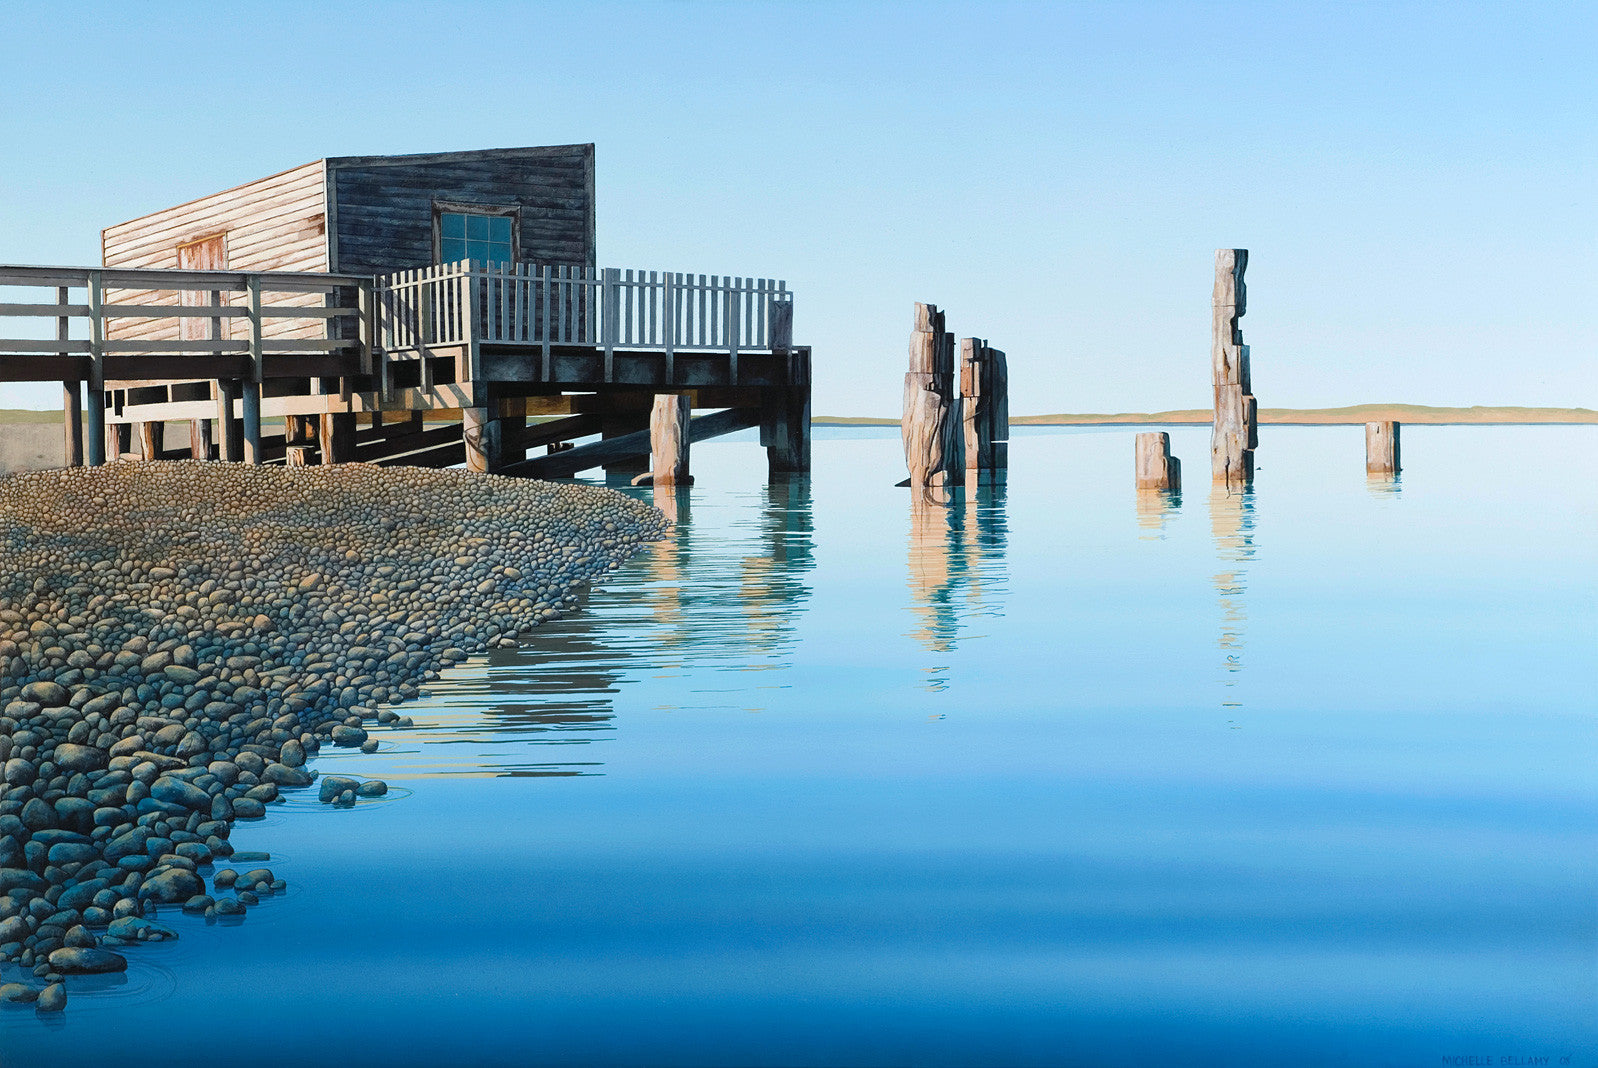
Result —
<instances>
[{"instance_id":1,"label":"wooden deck on posts with its railings, below the shed","mask_svg":"<svg viewBox=\"0 0 1598 1068\"><path fill-rule=\"evenodd\" d=\"M786 285L765 278L465 261L387 277L0 265L0 382L45 381L64 384L67 456L88 464L638 467L662 393L718 409L684 440L761 427L772 470L810 464L810 350L793 344ZM88 432L74 443L80 384ZM173 420L190 424L185 448L163 438Z\"/></svg>"}]
</instances>

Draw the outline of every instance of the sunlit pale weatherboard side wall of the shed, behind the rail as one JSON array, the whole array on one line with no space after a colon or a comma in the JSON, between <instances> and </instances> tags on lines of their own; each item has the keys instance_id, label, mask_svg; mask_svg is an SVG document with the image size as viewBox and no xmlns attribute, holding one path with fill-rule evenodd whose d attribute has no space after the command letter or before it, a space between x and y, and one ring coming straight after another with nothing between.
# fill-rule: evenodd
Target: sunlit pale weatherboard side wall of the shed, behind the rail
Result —
<instances>
[{"instance_id":1,"label":"sunlit pale weatherboard side wall of the shed, behind the rail","mask_svg":"<svg viewBox=\"0 0 1598 1068\"><path fill-rule=\"evenodd\" d=\"M324 163L316 160L294 169L246 182L221 193L190 200L176 208L118 222L101 230L101 262L105 267L179 269L177 248L224 235L229 270L328 270L328 187ZM208 302L209 294L197 302ZM179 294L112 289L107 304L177 304ZM243 304L233 294L225 304ZM316 294L273 294L267 304L320 304ZM169 341L185 320L112 318L107 337ZM209 323L206 323L209 331ZM243 337L243 320L222 320L224 337ZM267 320L268 337L321 337L324 326L315 320ZM209 333L206 333L209 336Z\"/></svg>"}]
</instances>

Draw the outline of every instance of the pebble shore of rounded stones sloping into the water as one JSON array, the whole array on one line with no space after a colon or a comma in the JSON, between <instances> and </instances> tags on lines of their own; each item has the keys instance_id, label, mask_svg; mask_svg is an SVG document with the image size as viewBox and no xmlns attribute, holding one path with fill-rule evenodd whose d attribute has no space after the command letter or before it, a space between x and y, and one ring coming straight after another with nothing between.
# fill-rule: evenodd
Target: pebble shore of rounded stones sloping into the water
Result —
<instances>
[{"instance_id":1,"label":"pebble shore of rounded stones sloping into the water","mask_svg":"<svg viewBox=\"0 0 1598 1068\"><path fill-rule=\"evenodd\" d=\"M152 905L240 916L281 891L254 857L217 868L237 820L666 528L606 489L360 464L0 480L0 959L38 980L0 1002L59 1012L66 975L174 938ZM318 798L385 790L328 775Z\"/></svg>"}]
</instances>

